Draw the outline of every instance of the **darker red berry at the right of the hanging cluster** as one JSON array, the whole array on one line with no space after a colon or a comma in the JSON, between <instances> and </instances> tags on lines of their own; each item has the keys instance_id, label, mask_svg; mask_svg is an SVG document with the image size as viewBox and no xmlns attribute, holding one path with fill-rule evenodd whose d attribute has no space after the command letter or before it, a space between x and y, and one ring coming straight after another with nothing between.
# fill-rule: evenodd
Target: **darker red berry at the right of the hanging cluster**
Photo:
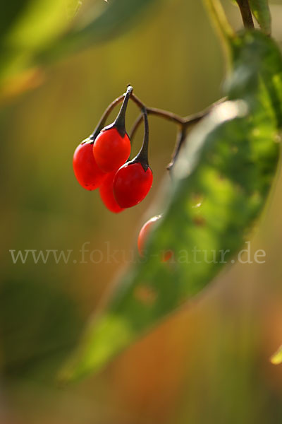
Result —
<instances>
[{"instance_id":1,"label":"darker red berry at the right of the hanging cluster","mask_svg":"<svg viewBox=\"0 0 282 424\"><path fill-rule=\"evenodd\" d=\"M121 208L131 208L140 203L152 187L153 174L150 167L144 170L139 162L125 163L114 178L114 196Z\"/></svg>"}]
</instances>

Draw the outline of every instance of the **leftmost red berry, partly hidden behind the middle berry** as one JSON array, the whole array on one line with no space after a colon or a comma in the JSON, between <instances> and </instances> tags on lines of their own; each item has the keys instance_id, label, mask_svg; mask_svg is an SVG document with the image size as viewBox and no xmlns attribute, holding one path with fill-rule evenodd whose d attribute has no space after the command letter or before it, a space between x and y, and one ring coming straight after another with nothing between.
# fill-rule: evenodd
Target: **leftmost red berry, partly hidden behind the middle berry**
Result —
<instances>
[{"instance_id":1,"label":"leftmost red berry, partly hidden behind the middle berry","mask_svg":"<svg viewBox=\"0 0 282 424\"><path fill-rule=\"evenodd\" d=\"M87 190L94 190L102 183L105 173L98 167L93 156L93 144L82 141L73 154L73 171L79 184Z\"/></svg>"}]
</instances>

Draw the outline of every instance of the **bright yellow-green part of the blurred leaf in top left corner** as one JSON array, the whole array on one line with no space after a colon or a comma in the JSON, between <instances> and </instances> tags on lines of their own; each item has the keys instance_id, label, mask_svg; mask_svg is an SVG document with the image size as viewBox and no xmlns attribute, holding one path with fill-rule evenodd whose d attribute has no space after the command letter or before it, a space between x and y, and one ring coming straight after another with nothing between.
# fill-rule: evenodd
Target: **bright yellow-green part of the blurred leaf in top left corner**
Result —
<instances>
[{"instance_id":1,"label":"bright yellow-green part of the blurred leaf in top left corner","mask_svg":"<svg viewBox=\"0 0 282 424\"><path fill-rule=\"evenodd\" d=\"M0 42L0 87L36 66L35 54L54 42L68 26L65 0L21 0L20 8L8 6L1 17L6 25Z\"/></svg>"}]
</instances>

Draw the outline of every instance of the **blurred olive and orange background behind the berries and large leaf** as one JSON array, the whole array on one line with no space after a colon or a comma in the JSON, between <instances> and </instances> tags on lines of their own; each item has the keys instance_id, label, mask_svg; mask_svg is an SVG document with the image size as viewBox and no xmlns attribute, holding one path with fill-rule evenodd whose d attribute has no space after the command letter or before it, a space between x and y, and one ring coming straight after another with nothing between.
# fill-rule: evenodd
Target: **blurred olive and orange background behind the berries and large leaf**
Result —
<instances>
[{"instance_id":1,"label":"blurred olive and orange background behind the berries and large leaf","mask_svg":"<svg viewBox=\"0 0 282 424\"><path fill-rule=\"evenodd\" d=\"M100 3L85 1L78 16L90 19L87 8L99 11ZM225 269L195 302L98 377L70 387L54 382L87 317L130 261L142 223L152 216L176 128L150 117L154 186L142 204L120 215L104 208L98 192L76 182L75 147L128 83L147 105L182 115L221 97L225 65L202 2L147 3L114 32L102 28L92 46L75 48L56 64L47 60L40 71L17 73L27 47L23 34L11 31L23 54L4 70L5 78L13 78L1 88L1 424L282 420L282 367L269 363L282 340L281 176L251 244L252 251L266 251L265 264ZM240 28L237 8L224 5ZM281 45L281 3L271 11ZM60 33L61 23L52 25ZM32 43L42 39L38 35ZM136 116L130 105L128 128ZM141 141L142 131L135 151ZM80 263L85 242L85 249L96 252L92 261L86 252L86 263ZM35 264L31 258L13 264L10 249L72 252L67 264L54 259ZM107 256L115 251L116 260Z\"/></svg>"}]
</instances>

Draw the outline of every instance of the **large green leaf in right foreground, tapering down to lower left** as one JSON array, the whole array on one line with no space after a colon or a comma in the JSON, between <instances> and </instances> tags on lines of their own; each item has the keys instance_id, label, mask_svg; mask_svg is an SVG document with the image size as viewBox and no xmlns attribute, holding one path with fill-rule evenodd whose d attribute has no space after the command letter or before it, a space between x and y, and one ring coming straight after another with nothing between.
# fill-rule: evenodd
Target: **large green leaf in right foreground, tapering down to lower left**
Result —
<instances>
[{"instance_id":1,"label":"large green leaf in right foreground, tapering down to lower left","mask_svg":"<svg viewBox=\"0 0 282 424\"><path fill-rule=\"evenodd\" d=\"M266 202L278 162L282 59L257 31L230 41L229 100L188 137L173 173L164 211L137 261L94 317L64 379L97 372L216 276L244 243ZM164 263L168 249L173 260Z\"/></svg>"}]
</instances>

